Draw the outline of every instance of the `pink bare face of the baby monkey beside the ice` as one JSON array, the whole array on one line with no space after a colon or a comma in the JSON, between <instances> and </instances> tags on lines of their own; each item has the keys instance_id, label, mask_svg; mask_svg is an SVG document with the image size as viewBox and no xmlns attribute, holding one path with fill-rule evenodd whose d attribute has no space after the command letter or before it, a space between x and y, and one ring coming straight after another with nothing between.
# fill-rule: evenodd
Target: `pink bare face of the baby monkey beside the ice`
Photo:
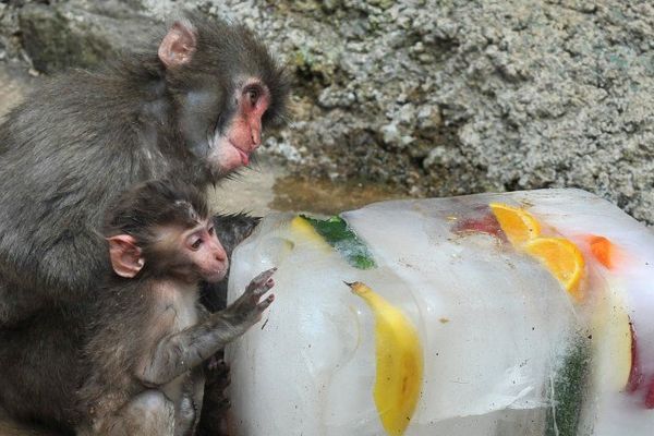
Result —
<instances>
[{"instance_id":1,"label":"pink bare face of the baby monkey beside the ice","mask_svg":"<svg viewBox=\"0 0 654 436\"><path fill-rule=\"evenodd\" d=\"M182 233L187 256L193 261L203 280L215 283L225 278L229 259L225 249L216 238L210 220Z\"/></svg>"}]
</instances>

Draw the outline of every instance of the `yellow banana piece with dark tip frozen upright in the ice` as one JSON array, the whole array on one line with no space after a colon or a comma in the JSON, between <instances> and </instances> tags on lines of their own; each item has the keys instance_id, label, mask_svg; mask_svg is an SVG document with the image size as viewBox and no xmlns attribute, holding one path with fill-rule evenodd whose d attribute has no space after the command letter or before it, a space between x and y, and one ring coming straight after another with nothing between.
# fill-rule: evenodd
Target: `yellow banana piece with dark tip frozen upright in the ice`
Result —
<instances>
[{"instance_id":1,"label":"yellow banana piece with dark tip frozen upright in the ice","mask_svg":"<svg viewBox=\"0 0 654 436\"><path fill-rule=\"evenodd\" d=\"M348 283L375 314L377 374L374 398L389 435L401 436L420 398L423 353L417 331L407 316L362 282Z\"/></svg>"}]
</instances>

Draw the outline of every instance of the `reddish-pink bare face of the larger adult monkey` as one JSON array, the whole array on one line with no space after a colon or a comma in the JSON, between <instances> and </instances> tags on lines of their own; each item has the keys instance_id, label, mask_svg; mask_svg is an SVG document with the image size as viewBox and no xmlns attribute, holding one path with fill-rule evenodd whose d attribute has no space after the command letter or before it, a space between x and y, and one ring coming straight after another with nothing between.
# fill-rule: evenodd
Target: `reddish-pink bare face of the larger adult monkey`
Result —
<instances>
[{"instance_id":1,"label":"reddish-pink bare face of the larger adult monkey","mask_svg":"<svg viewBox=\"0 0 654 436\"><path fill-rule=\"evenodd\" d=\"M225 134L214 138L210 160L225 172L250 164L250 155L262 144L262 117L270 105L270 92L258 78L250 78L235 96L238 111Z\"/></svg>"}]
</instances>

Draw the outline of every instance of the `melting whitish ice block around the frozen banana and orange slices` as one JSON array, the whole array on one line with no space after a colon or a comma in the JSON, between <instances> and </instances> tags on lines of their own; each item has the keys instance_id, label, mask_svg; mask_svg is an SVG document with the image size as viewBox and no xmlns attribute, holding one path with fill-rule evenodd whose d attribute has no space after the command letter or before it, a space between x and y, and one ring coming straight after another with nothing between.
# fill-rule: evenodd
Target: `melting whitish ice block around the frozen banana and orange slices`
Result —
<instances>
[{"instance_id":1,"label":"melting whitish ice block around the frozen banana and orange slices","mask_svg":"<svg viewBox=\"0 0 654 436\"><path fill-rule=\"evenodd\" d=\"M580 299L508 242L493 203L579 249ZM579 190L377 203L342 218L375 267L352 266L347 243L293 215L266 217L234 252L230 301L279 268L275 303L227 350L235 435L652 434L654 234L638 221ZM422 374L377 371L375 314L354 281L415 327ZM393 411L378 408L380 374L420 377L405 429L382 422Z\"/></svg>"}]
</instances>

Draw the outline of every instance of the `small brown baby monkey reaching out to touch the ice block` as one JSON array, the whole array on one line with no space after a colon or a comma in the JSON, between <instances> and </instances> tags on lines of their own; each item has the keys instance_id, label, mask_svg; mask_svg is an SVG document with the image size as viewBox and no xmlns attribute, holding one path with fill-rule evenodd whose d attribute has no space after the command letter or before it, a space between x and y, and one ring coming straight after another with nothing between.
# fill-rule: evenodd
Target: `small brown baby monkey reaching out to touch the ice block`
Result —
<instances>
[{"instance_id":1,"label":"small brown baby monkey reaching out to touch the ice block","mask_svg":"<svg viewBox=\"0 0 654 436\"><path fill-rule=\"evenodd\" d=\"M227 254L195 189L153 181L123 194L105 218L113 269L95 304L80 391L82 435L193 435L202 363L256 324L275 268L226 310L208 314L201 280L221 280Z\"/></svg>"}]
</instances>

